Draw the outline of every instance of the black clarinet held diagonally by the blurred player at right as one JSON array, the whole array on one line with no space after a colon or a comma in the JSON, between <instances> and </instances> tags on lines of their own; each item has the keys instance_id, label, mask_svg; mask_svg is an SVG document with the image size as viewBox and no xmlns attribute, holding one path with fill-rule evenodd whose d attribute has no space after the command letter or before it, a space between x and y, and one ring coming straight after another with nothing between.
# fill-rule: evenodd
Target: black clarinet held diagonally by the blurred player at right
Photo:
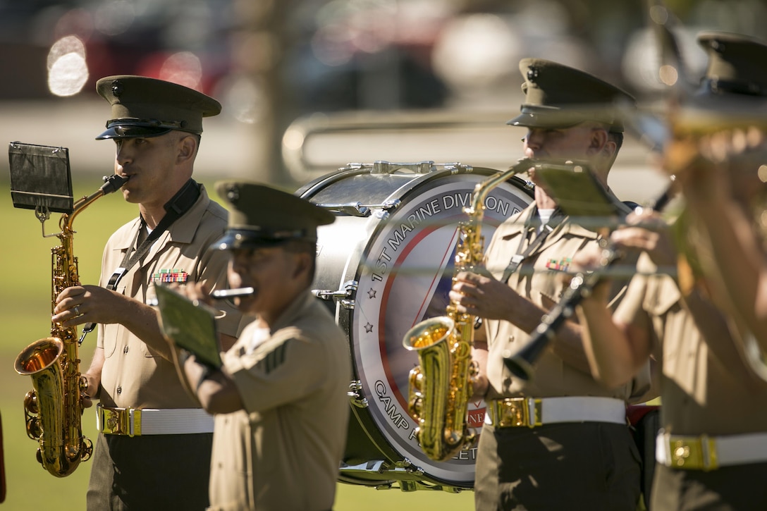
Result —
<instances>
[{"instance_id":1,"label":"black clarinet held diagonally by the blurred player at right","mask_svg":"<svg viewBox=\"0 0 767 511\"><path fill-rule=\"evenodd\" d=\"M652 206L653 209L660 211L667 205L671 197L669 187L655 201ZM621 259L622 252L616 250L609 240L603 238L600 239L599 243L602 248L599 269L593 272L579 272L575 275L558 304L551 309L551 312L542 316L541 322L532 331L528 344L520 348L515 354L503 358L503 364L509 368L509 371L512 371L515 377L525 381L532 378L533 364L538 361L538 358L541 358L548 343L557 335L558 329L566 319L574 314L575 308L581 303L581 300L591 295L594 286L604 276L604 271Z\"/></svg>"}]
</instances>

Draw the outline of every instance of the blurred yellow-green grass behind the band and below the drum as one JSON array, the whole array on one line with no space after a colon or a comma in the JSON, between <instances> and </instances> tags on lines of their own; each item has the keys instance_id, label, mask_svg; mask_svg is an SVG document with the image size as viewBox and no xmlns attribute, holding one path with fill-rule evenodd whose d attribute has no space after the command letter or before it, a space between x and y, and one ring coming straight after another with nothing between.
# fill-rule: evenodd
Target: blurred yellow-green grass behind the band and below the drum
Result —
<instances>
[{"instance_id":1,"label":"blurred yellow-green grass behind the band and below the drum","mask_svg":"<svg viewBox=\"0 0 767 511\"><path fill-rule=\"evenodd\" d=\"M222 176L224 177L224 176ZM3 511L26 509L85 509L90 462L81 463L71 476L51 476L35 460L37 444L25 432L22 401L31 389L31 378L21 377L13 369L16 355L31 342L48 336L51 315L51 247L57 238L43 238L41 226L31 209L15 209L10 183L0 181L0 218L5 225L5 238L0 241L0 325L5 333L0 338L0 413L2 413L5 476L8 493ZM94 193L101 185L97 177L73 177L74 197ZM202 180L214 196L213 181ZM137 214L137 206L125 203L119 193L105 196L83 211L74 221L74 255L77 256L81 282L95 284L101 265L101 251L107 237L117 227ZM45 223L46 232L58 232L59 213ZM80 350L81 368L91 363L91 334ZM92 410L83 417L84 434L96 437ZM473 493L449 494L419 491L374 490L363 486L339 484L336 511L390 511L414 506L416 509L457 511L473 509Z\"/></svg>"}]
</instances>

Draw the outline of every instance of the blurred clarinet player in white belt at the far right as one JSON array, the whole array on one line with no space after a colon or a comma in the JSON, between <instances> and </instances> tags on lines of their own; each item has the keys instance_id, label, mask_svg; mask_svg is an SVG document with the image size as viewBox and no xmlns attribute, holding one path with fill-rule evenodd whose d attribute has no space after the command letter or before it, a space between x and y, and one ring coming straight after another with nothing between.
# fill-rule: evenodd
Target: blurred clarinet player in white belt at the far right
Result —
<instances>
[{"instance_id":1,"label":"blurred clarinet player in white belt at the far right","mask_svg":"<svg viewBox=\"0 0 767 511\"><path fill-rule=\"evenodd\" d=\"M767 381L763 358L749 356L742 335L746 315L756 318L754 269L764 256L738 256L735 229L755 206L757 220L764 210L758 201L765 193L759 167L767 154L767 45L723 32L704 32L698 42L708 67L700 90L676 115L679 135L669 141L663 169L676 175L685 210L670 226L644 214L614 232L617 246L643 251L641 273L613 315L599 288L578 314L588 328L592 371L605 384L626 381L650 353L660 356L653 511L765 509L767 492L758 482L767 477ZM696 118L705 125L690 123ZM683 153L691 157L669 157ZM729 219L739 223L723 224ZM728 239L732 244L723 244ZM587 253L579 259L591 265ZM668 265L676 272L660 271ZM759 325L749 328L758 336Z\"/></svg>"}]
</instances>

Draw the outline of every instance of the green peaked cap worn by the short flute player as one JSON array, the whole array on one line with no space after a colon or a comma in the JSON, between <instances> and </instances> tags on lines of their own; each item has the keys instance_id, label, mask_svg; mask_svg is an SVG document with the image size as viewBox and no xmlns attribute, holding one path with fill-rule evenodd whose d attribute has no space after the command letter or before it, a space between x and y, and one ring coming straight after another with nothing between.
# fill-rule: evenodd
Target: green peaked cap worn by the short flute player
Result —
<instances>
[{"instance_id":1,"label":"green peaked cap worn by the short flute player","mask_svg":"<svg viewBox=\"0 0 767 511\"><path fill-rule=\"evenodd\" d=\"M219 181L216 192L229 209L220 250L275 246L291 239L317 241L317 227L335 216L306 199L258 183Z\"/></svg>"}]
</instances>

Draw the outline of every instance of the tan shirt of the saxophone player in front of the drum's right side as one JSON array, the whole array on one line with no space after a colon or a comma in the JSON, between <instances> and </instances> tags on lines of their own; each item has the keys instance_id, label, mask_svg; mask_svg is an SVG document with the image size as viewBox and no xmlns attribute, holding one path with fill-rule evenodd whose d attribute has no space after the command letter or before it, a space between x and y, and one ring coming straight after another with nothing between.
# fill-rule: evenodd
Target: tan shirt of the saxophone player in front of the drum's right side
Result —
<instances>
[{"instance_id":1,"label":"tan shirt of the saxophone player in front of the drum's right side","mask_svg":"<svg viewBox=\"0 0 767 511\"><path fill-rule=\"evenodd\" d=\"M513 255L520 249L520 239L528 234L525 220L536 212L535 203L512 216L495 230L486 253L486 267L500 279ZM551 309L559 302L565 288L555 269L565 269L572 257L581 249L597 243L597 233L565 220L548 235L545 242L519 265L509 278L509 287L536 305ZM522 251L532 242L522 242ZM607 389L594 381L591 373L566 364L553 351L547 350L535 364L535 376L530 381L513 377L505 368L502 358L513 354L527 344L530 336L509 321L486 321L488 338L486 399L503 397L560 397L601 396L628 400L649 387L649 366L643 381Z\"/></svg>"}]
</instances>

